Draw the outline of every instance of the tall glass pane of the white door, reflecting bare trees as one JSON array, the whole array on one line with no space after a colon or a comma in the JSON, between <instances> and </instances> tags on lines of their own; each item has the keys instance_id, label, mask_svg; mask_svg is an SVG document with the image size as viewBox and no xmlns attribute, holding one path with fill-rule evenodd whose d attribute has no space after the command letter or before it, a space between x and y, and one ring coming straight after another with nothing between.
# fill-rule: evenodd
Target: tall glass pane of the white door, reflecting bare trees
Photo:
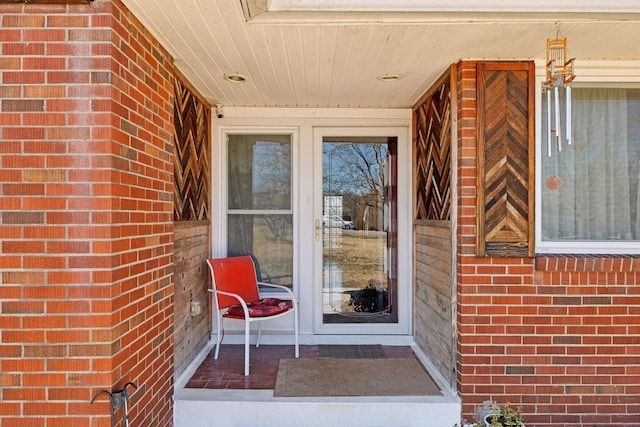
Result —
<instances>
[{"instance_id":1,"label":"tall glass pane of the white door, reflecting bare trees","mask_svg":"<svg viewBox=\"0 0 640 427\"><path fill-rule=\"evenodd\" d=\"M323 137L323 323L395 323L396 138Z\"/></svg>"}]
</instances>

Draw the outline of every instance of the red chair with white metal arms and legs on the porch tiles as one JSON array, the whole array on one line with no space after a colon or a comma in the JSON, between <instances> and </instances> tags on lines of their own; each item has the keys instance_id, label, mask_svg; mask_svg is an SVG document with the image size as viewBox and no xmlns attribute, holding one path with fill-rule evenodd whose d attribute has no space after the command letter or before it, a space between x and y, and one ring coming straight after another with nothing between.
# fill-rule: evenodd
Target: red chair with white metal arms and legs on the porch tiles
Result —
<instances>
[{"instance_id":1,"label":"red chair with white metal arms and legs on the porch tiles","mask_svg":"<svg viewBox=\"0 0 640 427\"><path fill-rule=\"evenodd\" d=\"M217 316L217 343L215 358L218 358L222 343L223 319L244 321L244 374L249 375L249 336L252 322L258 323L260 346L262 321L293 314L295 357L300 355L298 345L298 302L291 289L282 285L260 283L260 286L277 288L286 292L286 299L260 298L258 279L253 259L249 255L207 260L211 270L212 309Z\"/></svg>"}]
</instances>

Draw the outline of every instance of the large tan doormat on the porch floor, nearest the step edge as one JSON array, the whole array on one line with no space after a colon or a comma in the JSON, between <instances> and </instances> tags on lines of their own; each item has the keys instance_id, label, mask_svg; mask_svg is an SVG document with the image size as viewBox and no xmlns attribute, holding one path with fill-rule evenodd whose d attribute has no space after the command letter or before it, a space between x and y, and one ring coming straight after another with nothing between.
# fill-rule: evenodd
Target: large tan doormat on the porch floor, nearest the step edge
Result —
<instances>
[{"instance_id":1,"label":"large tan doormat on the porch floor, nearest the step edge","mask_svg":"<svg viewBox=\"0 0 640 427\"><path fill-rule=\"evenodd\" d=\"M439 396L413 358L281 359L274 396Z\"/></svg>"}]
</instances>

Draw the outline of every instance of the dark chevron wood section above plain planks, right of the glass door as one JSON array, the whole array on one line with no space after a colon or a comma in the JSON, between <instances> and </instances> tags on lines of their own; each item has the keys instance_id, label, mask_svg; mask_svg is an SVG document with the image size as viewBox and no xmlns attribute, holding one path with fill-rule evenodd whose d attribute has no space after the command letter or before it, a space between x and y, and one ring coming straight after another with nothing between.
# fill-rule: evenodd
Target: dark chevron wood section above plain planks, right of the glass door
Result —
<instances>
[{"instance_id":1,"label":"dark chevron wood section above plain planks, right of the glass door","mask_svg":"<svg viewBox=\"0 0 640 427\"><path fill-rule=\"evenodd\" d=\"M451 219L451 80L447 72L414 108L415 219Z\"/></svg>"}]
</instances>

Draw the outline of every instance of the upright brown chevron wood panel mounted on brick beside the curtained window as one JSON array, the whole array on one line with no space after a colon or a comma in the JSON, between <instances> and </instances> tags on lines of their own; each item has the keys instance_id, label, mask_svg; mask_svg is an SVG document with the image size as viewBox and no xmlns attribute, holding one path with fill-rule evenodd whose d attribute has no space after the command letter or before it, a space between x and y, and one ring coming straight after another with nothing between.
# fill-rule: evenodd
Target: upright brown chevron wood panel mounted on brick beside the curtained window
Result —
<instances>
[{"instance_id":1,"label":"upright brown chevron wood panel mounted on brick beside the curtained window","mask_svg":"<svg viewBox=\"0 0 640 427\"><path fill-rule=\"evenodd\" d=\"M533 64L478 64L480 256L533 256Z\"/></svg>"}]
</instances>

